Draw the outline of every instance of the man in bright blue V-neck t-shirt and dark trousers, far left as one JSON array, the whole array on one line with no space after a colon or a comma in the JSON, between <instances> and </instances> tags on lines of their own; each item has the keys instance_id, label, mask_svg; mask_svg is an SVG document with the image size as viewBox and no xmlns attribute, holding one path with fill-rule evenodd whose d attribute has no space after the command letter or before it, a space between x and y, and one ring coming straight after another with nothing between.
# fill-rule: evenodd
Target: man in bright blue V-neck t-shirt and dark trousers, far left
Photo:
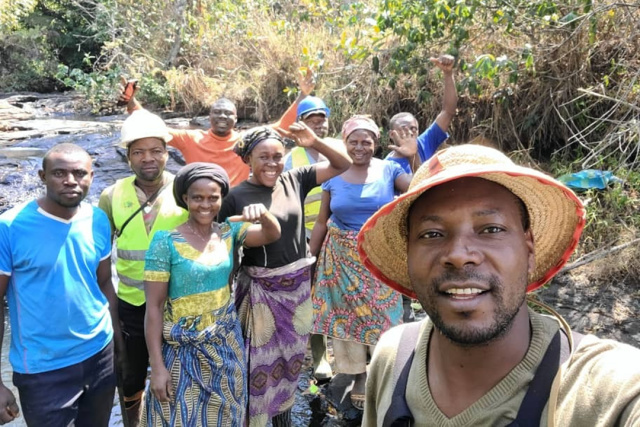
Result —
<instances>
[{"instance_id":1,"label":"man in bright blue V-neck t-shirt and dark trousers, far left","mask_svg":"<svg viewBox=\"0 0 640 427\"><path fill-rule=\"evenodd\" d=\"M9 306L13 383L29 426L106 427L116 386L114 338L122 348L111 226L104 212L82 203L93 180L85 150L54 146L38 174L46 194L0 215L0 297ZM0 383L0 423L18 413Z\"/></svg>"}]
</instances>

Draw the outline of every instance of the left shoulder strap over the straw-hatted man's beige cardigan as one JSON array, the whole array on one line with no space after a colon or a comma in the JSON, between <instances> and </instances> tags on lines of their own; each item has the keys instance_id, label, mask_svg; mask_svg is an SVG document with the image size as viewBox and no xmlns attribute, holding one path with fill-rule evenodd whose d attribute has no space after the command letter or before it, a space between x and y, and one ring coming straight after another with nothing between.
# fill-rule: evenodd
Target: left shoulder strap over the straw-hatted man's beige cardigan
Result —
<instances>
[{"instance_id":1,"label":"left shoulder strap over the straw-hatted man's beige cardigan","mask_svg":"<svg viewBox=\"0 0 640 427\"><path fill-rule=\"evenodd\" d=\"M391 406L384 416L382 427L408 427L413 422L413 415L407 405L405 393L421 326L422 322L412 322L407 324L402 331L400 346L393 365L395 388L391 395Z\"/></svg>"}]
</instances>

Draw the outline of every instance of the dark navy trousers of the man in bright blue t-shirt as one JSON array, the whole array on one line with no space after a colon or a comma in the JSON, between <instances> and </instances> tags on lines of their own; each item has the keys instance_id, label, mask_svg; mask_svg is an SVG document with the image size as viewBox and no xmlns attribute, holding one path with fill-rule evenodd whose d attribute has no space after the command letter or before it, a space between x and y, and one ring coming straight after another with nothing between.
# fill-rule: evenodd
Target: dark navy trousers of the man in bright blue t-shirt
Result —
<instances>
[{"instance_id":1,"label":"dark navy trousers of the man in bright blue t-shirt","mask_svg":"<svg viewBox=\"0 0 640 427\"><path fill-rule=\"evenodd\" d=\"M116 390L113 342L87 360L39 374L13 373L29 427L107 427Z\"/></svg>"}]
</instances>

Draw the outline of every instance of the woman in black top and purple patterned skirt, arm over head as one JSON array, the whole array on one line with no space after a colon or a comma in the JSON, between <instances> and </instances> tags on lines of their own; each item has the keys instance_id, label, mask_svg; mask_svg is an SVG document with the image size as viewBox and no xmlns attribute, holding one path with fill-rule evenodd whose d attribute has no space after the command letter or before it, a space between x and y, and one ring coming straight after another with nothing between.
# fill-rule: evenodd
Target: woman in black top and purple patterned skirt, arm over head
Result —
<instances>
[{"instance_id":1,"label":"woman in black top and purple patterned skirt, arm over head","mask_svg":"<svg viewBox=\"0 0 640 427\"><path fill-rule=\"evenodd\" d=\"M311 323L310 267L304 228L304 199L312 188L349 167L346 153L318 138L304 123L289 130L298 145L312 147L329 161L282 172L284 142L269 128L249 132L237 153L252 176L225 198L220 218L238 214L250 203L268 207L280 223L279 240L243 251L236 306L249 365L249 425L291 425L298 375Z\"/></svg>"}]
</instances>

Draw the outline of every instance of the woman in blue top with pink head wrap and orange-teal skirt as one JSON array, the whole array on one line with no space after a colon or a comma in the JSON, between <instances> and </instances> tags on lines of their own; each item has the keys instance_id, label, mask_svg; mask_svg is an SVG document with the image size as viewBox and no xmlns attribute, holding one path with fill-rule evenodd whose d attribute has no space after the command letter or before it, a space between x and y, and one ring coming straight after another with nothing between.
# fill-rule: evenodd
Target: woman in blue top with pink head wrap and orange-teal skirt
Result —
<instances>
[{"instance_id":1,"label":"woman in blue top with pink head wrap and orange-teal skirt","mask_svg":"<svg viewBox=\"0 0 640 427\"><path fill-rule=\"evenodd\" d=\"M413 156L415 138L395 135ZM394 162L373 154L380 130L366 116L354 116L342 127L342 140L353 164L322 185L318 220L311 234L311 253L318 256L313 309L313 333L331 337L335 370L355 376L351 402L362 409L367 378L367 351L380 334L402 320L400 294L384 286L362 265L356 236L365 221L405 192L411 175Z\"/></svg>"}]
</instances>

